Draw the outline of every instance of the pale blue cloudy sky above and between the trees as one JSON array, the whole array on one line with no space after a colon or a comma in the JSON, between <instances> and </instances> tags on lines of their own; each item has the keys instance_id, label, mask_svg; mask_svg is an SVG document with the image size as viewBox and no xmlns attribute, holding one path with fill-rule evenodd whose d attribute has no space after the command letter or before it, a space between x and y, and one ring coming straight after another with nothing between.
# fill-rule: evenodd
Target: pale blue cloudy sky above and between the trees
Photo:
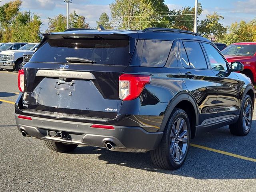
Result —
<instances>
[{"instance_id":1,"label":"pale blue cloudy sky above and between the trees","mask_svg":"<svg viewBox=\"0 0 256 192\"><path fill-rule=\"evenodd\" d=\"M31 10L41 16L43 25L42 32L48 28L47 17L54 17L58 14L66 15L66 3L63 0L22 0L22 11ZM10 0L2 0L0 5L10 2ZM86 22L89 22L91 27L96 27L102 12L110 15L109 4L114 0L72 0L70 4L70 12L74 10L86 17ZM202 3L204 12L200 19L203 19L206 14L214 11L224 16L222 23L224 26L230 26L232 22L245 20L249 21L256 17L256 0L198 0ZM165 0L165 3L170 9L180 9L184 6L194 6L194 0Z\"/></svg>"}]
</instances>

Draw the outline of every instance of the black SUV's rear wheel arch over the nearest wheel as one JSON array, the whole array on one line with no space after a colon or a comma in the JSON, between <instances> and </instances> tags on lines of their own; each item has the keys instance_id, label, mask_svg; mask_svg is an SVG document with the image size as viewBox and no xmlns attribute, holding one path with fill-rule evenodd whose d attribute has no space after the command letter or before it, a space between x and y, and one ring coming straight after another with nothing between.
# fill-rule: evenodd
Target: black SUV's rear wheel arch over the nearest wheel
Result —
<instances>
[{"instance_id":1,"label":"black SUV's rear wheel arch over the nearest wheel","mask_svg":"<svg viewBox=\"0 0 256 192\"><path fill-rule=\"evenodd\" d=\"M199 122L199 111L196 101L188 92L177 94L169 102L159 131L164 131L174 108L180 108L186 112L190 120L191 138L194 138L196 134L196 125L198 125Z\"/></svg>"}]
</instances>

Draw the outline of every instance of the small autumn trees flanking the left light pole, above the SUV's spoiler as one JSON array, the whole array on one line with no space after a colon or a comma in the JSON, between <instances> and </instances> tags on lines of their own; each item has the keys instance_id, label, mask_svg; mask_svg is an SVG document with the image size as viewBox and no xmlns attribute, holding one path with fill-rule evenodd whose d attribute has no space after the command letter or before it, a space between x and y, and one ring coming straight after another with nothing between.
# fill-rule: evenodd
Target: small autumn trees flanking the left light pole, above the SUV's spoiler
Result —
<instances>
[{"instance_id":1,"label":"small autumn trees flanking the left light pole, above the SUV's spoiler","mask_svg":"<svg viewBox=\"0 0 256 192\"><path fill-rule=\"evenodd\" d=\"M66 16L59 14L54 18L48 18L49 25L47 32L61 32L66 30ZM84 16L76 14L74 11L69 15L69 27L70 28L89 28L89 24L86 23L86 18Z\"/></svg>"}]
</instances>

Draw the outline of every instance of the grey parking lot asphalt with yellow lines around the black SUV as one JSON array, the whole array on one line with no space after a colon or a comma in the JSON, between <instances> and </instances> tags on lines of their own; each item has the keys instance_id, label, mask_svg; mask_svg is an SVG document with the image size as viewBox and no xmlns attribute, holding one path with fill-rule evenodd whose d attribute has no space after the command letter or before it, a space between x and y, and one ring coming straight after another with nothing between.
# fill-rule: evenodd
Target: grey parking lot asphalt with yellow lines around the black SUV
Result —
<instances>
[{"instance_id":1,"label":"grey parking lot asphalt with yellow lines around the black SUV","mask_svg":"<svg viewBox=\"0 0 256 192\"><path fill-rule=\"evenodd\" d=\"M167 171L155 167L149 153L79 146L61 154L24 138L14 120L17 94L17 73L0 71L1 192L256 191L256 113L247 136L233 136L227 126L201 133L182 168Z\"/></svg>"}]
</instances>

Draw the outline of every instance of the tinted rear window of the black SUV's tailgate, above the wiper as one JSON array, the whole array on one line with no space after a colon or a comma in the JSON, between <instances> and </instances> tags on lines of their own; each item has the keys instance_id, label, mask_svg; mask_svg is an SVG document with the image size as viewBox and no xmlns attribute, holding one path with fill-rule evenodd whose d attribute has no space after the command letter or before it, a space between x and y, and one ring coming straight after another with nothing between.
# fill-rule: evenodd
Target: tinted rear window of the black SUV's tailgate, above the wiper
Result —
<instances>
[{"instance_id":1,"label":"tinted rear window of the black SUV's tailgate, above the wiper","mask_svg":"<svg viewBox=\"0 0 256 192\"><path fill-rule=\"evenodd\" d=\"M83 58L104 65L126 65L130 62L129 40L48 39L30 62L67 63L67 57Z\"/></svg>"}]
</instances>

